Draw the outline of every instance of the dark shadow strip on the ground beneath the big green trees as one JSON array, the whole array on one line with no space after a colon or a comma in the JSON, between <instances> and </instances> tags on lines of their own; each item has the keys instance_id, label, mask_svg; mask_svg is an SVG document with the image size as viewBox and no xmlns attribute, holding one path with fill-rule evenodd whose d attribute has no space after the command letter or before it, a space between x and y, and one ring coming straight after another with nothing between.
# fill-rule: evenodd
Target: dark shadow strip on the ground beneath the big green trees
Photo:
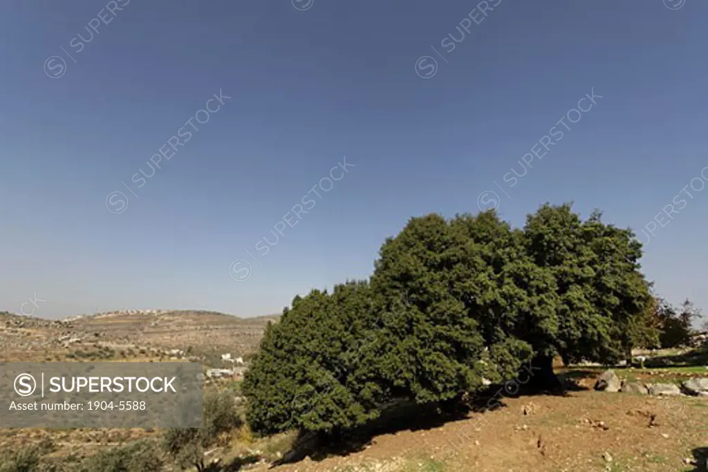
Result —
<instances>
[{"instance_id":1,"label":"dark shadow strip on the ground beneath the big green trees","mask_svg":"<svg viewBox=\"0 0 708 472\"><path fill-rule=\"evenodd\" d=\"M592 373L592 372L590 372ZM328 456L348 456L366 449L375 437L382 434L394 434L401 431L431 430L447 422L469 419L471 413L487 413L499 408L506 408L504 398L521 396L558 395L568 396L571 391L588 390L573 381L559 380L566 386L560 391L539 391L529 388L510 388L514 381L505 384L490 385L468 401L450 401L448 403L417 405L410 401L400 401L384 409L381 416L367 424L340 434L338 437L326 437L314 433L301 434L292 449L273 467L299 462L309 456L313 461L322 461Z\"/></svg>"}]
</instances>

